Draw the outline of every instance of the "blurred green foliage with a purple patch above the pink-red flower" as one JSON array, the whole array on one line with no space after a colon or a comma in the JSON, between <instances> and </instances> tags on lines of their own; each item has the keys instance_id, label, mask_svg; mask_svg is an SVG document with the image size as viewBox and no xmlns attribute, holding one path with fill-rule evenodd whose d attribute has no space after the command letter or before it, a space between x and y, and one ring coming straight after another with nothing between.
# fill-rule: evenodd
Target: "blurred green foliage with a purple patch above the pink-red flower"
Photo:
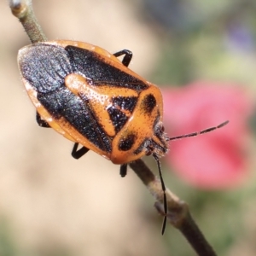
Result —
<instances>
[{"instance_id":1,"label":"blurred green foliage with a purple patch above the pink-red flower","mask_svg":"<svg viewBox=\"0 0 256 256\"><path fill-rule=\"evenodd\" d=\"M196 79L212 79L254 86L253 1L206 4L195 0L148 0L145 7L146 16L158 24L156 32L162 42L160 61L152 74L156 84L184 85Z\"/></svg>"}]
</instances>

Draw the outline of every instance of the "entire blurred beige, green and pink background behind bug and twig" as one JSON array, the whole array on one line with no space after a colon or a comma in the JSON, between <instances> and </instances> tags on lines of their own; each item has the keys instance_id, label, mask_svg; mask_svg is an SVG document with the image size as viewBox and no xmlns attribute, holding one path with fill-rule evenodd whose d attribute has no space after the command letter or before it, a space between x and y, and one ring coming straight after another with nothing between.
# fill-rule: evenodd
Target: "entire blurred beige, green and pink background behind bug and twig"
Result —
<instances>
[{"instance_id":1,"label":"entire blurred beige, green and pink background behind bug and twig","mask_svg":"<svg viewBox=\"0 0 256 256\"><path fill-rule=\"evenodd\" d=\"M130 49L131 69L159 84L170 137L166 185L188 202L219 255L255 255L256 3L250 0L33 1L49 39ZM0 3L0 255L195 255L133 172L39 128L16 64L30 44ZM145 158L156 171L154 160ZM157 172L156 172L157 173Z\"/></svg>"}]
</instances>

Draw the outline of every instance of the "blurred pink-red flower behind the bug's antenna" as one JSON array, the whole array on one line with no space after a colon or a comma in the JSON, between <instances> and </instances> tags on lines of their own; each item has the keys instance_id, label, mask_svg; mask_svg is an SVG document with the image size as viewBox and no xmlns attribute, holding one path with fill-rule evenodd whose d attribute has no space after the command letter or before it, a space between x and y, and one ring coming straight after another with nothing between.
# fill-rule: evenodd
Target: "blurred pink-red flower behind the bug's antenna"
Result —
<instances>
[{"instance_id":1,"label":"blurred pink-red flower behind the bug's antenna","mask_svg":"<svg viewBox=\"0 0 256 256\"><path fill-rule=\"evenodd\" d=\"M216 131L171 142L166 161L172 169L201 189L241 183L247 176L247 119L253 108L241 88L199 82L162 92L164 124L170 137L230 120Z\"/></svg>"}]
</instances>

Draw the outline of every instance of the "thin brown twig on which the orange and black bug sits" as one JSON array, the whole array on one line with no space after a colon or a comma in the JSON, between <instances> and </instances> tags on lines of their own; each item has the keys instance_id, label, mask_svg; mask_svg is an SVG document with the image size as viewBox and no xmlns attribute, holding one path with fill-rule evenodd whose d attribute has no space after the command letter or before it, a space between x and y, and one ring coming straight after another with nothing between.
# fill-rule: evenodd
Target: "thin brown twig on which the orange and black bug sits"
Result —
<instances>
[{"instance_id":1,"label":"thin brown twig on which the orange and black bug sits","mask_svg":"<svg viewBox=\"0 0 256 256\"><path fill-rule=\"evenodd\" d=\"M46 41L47 38L33 13L31 0L10 0L9 6L13 15L15 15L20 20L22 26L24 26L32 43ZM146 185L150 193L154 195L156 200L155 207L158 212L165 215L163 210L164 195L160 179L150 171L143 160L136 160L130 163L130 166ZM187 238L198 255L216 256L216 253L214 253L212 247L208 244L201 230L199 230L191 217L188 205L180 201L177 195L172 194L169 189L166 189L166 198L168 205L168 221L183 233L183 236Z\"/></svg>"}]
</instances>

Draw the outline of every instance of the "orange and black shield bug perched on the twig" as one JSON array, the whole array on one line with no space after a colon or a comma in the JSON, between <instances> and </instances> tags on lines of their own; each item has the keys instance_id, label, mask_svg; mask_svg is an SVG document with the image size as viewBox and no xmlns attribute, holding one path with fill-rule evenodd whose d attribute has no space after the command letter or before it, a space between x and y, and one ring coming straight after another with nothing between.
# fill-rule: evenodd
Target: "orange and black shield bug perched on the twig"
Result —
<instances>
[{"instance_id":1,"label":"orange and black shield bug perched on the twig","mask_svg":"<svg viewBox=\"0 0 256 256\"><path fill-rule=\"evenodd\" d=\"M227 123L167 137L160 89L128 68L131 58L127 49L112 55L91 44L65 40L31 44L18 55L38 125L51 127L73 141L75 159L93 150L119 164L122 177L128 163L150 154L160 172L159 159L166 154L170 140L193 137ZM166 212L161 172L160 179Z\"/></svg>"}]
</instances>

